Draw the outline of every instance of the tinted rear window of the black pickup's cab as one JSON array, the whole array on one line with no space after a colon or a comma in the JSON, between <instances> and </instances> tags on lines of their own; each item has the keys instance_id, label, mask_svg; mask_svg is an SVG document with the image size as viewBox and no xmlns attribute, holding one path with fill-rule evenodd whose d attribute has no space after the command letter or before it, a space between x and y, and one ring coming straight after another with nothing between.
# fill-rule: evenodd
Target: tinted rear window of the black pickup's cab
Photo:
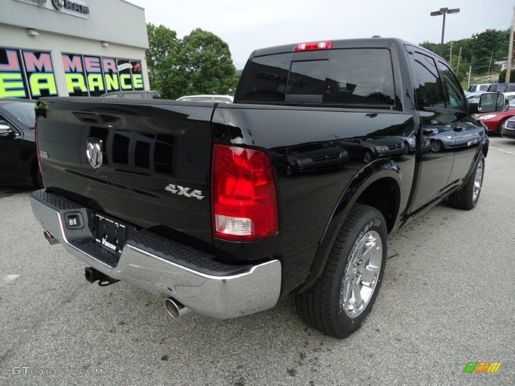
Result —
<instances>
[{"instance_id":1,"label":"tinted rear window of the black pickup's cab","mask_svg":"<svg viewBox=\"0 0 515 386\"><path fill-rule=\"evenodd\" d=\"M239 101L394 104L387 49L335 49L329 60L295 59L291 53L252 59L245 69Z\"/></svg>"}]
</instances>

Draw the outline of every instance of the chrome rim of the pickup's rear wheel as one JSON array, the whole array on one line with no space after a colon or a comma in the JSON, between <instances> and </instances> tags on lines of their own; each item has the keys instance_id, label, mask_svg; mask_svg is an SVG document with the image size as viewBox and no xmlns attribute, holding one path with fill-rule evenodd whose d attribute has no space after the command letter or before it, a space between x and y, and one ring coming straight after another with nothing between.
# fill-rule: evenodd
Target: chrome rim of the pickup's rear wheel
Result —
<instances>
[{"instance_id":1,"label":"chrome rim of the pickup's rear wheel","mask_svg":"<svg viewBox=\"0 0 515 386\"><path fill-rule=\"evenodd\" d=\"M382 260L381 236L370 231L354 248L343 280L340 302L349 318L356 318L370 302L379 279Z\"/></svg>"}]
</instances>

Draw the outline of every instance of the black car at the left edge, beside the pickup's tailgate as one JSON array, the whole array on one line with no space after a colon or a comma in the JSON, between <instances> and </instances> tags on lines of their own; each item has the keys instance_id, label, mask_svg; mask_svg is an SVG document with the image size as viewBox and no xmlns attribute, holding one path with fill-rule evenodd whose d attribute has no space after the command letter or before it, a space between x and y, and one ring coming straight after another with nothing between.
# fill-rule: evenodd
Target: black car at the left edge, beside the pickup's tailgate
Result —
<instances>
[{"instance_id":1,"label":"black car at the left edge, beside the pickup's tailgate","mask_svg":"<svg viewBox=\"0 0 515 386\"><path fill-rule=\"evenodd\" d=\"M0 186L42 186L30 99L0 98Z\"/></svg>"}]
</instances>

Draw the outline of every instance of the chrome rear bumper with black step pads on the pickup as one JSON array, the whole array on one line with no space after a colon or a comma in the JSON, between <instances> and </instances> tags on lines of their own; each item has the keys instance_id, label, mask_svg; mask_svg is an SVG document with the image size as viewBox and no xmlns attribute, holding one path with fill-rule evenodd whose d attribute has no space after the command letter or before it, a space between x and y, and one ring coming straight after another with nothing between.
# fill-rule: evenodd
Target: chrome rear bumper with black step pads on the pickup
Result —
<instances>
[{"instance_id":1,"label":"chrome rear bumper with black step pads on the pickup","mask_svg":"<svg viewBox=\"0 0 515 386\"><path fill-rule=\"evenodd\" d=\"M117 261L109 260L106 254L111 254L89 229L87 208L45 189L32 192L30 204L45 231L88 266L147 292L174 297L192 311L229 319L272 308L279 299L279 260L228 265L145 230L127 239ZM83 226L69 226L70 216L79 218L79 226L83 220Z\"/></svg>"}]
</instances>

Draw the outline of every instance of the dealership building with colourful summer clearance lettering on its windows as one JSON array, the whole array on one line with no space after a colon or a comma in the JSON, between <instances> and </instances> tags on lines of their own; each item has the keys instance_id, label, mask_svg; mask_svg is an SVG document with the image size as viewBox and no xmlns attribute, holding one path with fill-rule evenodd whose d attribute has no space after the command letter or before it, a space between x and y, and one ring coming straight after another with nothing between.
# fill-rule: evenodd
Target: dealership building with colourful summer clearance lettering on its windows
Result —
<instances>
[{"instance_id":1,"label":"dealership building with colourful summer clearance lettering on its windows","mask_svg":"<svg viewBox=\"0 0 515 386\"><path fill-rule=\"evenodd\" d=\"M0 98L148 90L145 12L125 0L1 0Z\"/></svg>"}]
</instances>

